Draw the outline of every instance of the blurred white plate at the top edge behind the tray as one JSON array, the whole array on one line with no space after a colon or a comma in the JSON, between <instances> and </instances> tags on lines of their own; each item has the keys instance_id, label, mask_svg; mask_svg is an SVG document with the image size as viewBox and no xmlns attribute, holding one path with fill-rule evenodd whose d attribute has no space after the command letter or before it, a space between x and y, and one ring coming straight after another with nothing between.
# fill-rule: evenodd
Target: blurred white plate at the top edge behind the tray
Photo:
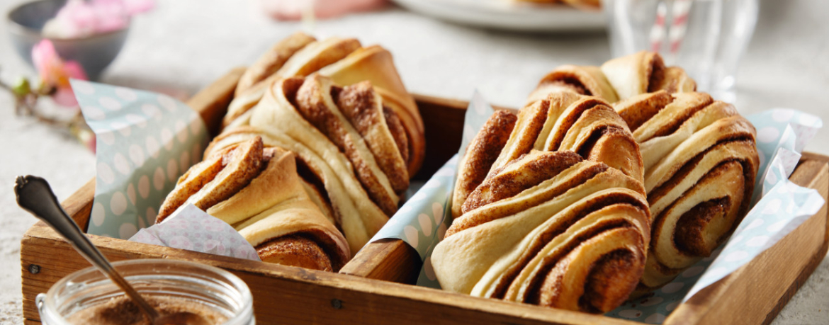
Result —
<instances>
[{"instance_id":1,"label":"blurred white plate at the top edge behind the tray","mask_svg":"<svg viewBox=\"0 0 829 325\"><path fill-rule=\"evenodd\" d=\"M604 29L601 10L582 11L564 4L511 0L394 0L401 7L449 22L521 32L571 32Z\"/></svg>"}]
</instances>

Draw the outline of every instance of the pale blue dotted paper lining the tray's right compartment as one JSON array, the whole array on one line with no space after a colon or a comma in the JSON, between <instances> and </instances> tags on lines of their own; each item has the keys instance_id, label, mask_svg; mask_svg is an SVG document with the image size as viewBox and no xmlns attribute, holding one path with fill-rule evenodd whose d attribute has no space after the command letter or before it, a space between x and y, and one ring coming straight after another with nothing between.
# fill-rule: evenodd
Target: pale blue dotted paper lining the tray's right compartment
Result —
<instances>
[{"instance_id":1,"label":"pale blue dotted paper lining the tray's right compartment","mask_svg":"<svg viewBox=\"0 0 829 325\"><path fill-rule=\"evenodd\" d=\"M467 109L460 153L492 113L492 108L476 92ZM645 298L632 299L607 316L662 323L680 303L748 263L794 230L807 216L817 213L823 205L817 191L788 182L802 148L822 127L821 119L793 109L770 109L748 119L757 129L760 158L754 207L748 216L731 239L710 257L686 269L656 292ZM372 239L398 238L414 247L424 260L418 279L421 286L440 288L430 256L450 224L446 207L450 205L457 160L458 155L446 162ZM443 215L440 222L439 215ZM435 226L439 230L432 232Z\"/></svg>"}]
</instances>

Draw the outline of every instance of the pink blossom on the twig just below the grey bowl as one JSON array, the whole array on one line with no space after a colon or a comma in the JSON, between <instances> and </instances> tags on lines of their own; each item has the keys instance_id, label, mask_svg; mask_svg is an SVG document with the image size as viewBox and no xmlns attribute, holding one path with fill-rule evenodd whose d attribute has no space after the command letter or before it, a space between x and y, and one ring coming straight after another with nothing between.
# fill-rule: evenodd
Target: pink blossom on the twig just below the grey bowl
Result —
<instances>
[{"instance_id":1,"label":"pink blossom on the twig just below the grey bowl","mask_svg":"<svg viewBox=\"0 0 829 325\"><path fill-rule=\"evenodd\" d=\"M70 78L87 80L84 68L78 62L61 60L49 40L42 40L32 47L32 62L41 77L41 83L56 89L52 99L57 104L69 107L78 105L69 83Z\"/></svg>"}]
</instances>

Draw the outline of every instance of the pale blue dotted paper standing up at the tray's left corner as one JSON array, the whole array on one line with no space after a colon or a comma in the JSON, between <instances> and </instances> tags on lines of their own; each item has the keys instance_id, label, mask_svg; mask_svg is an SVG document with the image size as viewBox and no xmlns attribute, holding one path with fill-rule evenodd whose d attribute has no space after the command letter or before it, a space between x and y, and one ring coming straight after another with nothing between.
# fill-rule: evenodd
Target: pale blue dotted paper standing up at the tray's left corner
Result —
<instances>
[{"instance_id":1,"label":"pale blue dotted paper standing up at the tray's left corner","mask_svg":"<svg viewBox=\"0 0 829 325\"><path fill-rule=\"evenodd\" d=\"M95 201L88 233L128 239L153 225L178 177L201 161L209 140L201 117L176 99L71 80L95 132Z\"/></svg>"}]
</instances>

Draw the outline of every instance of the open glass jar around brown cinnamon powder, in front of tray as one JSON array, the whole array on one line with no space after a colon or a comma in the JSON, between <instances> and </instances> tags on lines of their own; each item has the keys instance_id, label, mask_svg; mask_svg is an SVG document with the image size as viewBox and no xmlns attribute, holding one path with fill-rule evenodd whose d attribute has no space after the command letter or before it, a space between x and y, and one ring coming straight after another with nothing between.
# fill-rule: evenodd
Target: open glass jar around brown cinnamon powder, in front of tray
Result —
<instances>
[{"instance_id":1,"label":"open glass jar around brown cinnamon powder, in front of tray","mask_svg":"<svg viewBox=\"0 0 829 325\"><path fill-rule=\"evenodd\" d=\"M174 298L199 303L227 318L223 325L253 325L253 298L241 279L216 267L179 260L127 260L113 263L143 297ZM37 309L46 325L69 325L73 313L124 296L94 267L81 269L37 295Z\"/></svg>"}]
</instances>

